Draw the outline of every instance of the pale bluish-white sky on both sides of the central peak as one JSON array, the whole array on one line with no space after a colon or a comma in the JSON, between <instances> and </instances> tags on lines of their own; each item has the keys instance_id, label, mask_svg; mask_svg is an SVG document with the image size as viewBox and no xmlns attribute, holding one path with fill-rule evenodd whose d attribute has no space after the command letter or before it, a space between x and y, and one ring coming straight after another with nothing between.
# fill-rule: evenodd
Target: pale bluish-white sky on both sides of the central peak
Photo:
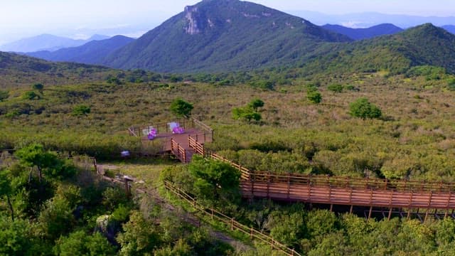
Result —
<instances>
[{"instance_id":1,"label":"pale bluish-white sky on both sides of the central peak","mask_svg":"<svg viewBox=\"0 0 455 256\"><path fill-rule=\"evenodd\" d=\"M296 14L455 16L454 0L252 0ZM88 38L94 33L138 37L183 11L191 0L0 0L0 45L41 33Z\"/></svg>"}]
</instances>

